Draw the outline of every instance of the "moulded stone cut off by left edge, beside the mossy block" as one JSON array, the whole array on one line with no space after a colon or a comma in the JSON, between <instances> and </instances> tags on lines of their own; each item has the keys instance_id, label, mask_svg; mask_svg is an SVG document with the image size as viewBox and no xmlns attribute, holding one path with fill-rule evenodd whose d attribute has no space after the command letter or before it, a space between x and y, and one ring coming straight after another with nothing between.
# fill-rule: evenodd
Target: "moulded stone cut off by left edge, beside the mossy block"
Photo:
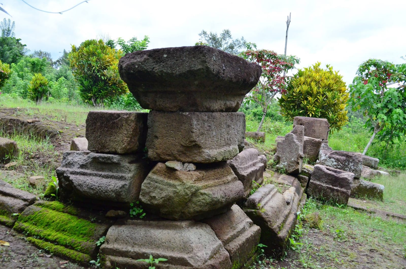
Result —
<instances>
[{"instance_id":1,"label":"moulded stone cut off by left edge, beside the mossy block","mask_svg":"<svg viewBox=\"0 0 406 269\"><path fill-rule=\"evenodd\" d=\"M0 223L12 227L17 219L13 214L23 212L35 200L35 195L0 180Z\"/></svg>"}]
</instances>

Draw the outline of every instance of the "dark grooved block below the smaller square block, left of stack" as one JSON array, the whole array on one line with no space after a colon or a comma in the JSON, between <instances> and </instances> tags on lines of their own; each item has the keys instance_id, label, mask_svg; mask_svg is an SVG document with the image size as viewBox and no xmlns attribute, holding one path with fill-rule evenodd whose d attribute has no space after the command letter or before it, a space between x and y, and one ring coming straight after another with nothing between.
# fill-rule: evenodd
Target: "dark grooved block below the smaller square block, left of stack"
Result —
<instances>
[{"instance_id":1,"label":"dark grooved block below the smaller square block, left of stack","mask_svg":"<svg viewBox=\"0 0 406 269\"><path fill-rule=\"evenodd\" d=\"M149 166L139 156L89 151L65 152L56 169L62 197L105 205L138 200L148 172Z\"/></svg>"}]
</instances>

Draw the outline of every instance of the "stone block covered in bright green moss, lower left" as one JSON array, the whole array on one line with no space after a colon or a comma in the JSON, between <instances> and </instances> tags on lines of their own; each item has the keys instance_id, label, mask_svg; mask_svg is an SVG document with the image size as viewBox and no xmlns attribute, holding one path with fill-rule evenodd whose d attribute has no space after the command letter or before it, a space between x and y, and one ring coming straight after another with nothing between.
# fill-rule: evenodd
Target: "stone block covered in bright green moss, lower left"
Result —
<instances>
[{"instance_id":1,"label":"stone block covered in bright green moss, lower left","mask_svg":"<svg viewBox=\"0 0 406 269\"><path fill-rule=\"evenodd\" d=\"M97 256L95 243L111 225L112 221L100 218L97 213L56 201L38 201L19 215L13 229L24 233L28 236L26 240L39 248L89 265Z\"/></svg>"}]
</instances>

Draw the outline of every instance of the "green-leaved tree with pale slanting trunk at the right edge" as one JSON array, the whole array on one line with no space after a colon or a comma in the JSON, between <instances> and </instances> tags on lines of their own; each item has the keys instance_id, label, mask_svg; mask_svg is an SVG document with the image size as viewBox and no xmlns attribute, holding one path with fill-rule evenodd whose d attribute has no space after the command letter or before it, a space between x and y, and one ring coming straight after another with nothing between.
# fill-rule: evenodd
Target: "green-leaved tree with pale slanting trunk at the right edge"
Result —
<instances>
[{"instance_id":1,"label":"green-leaved tree with pale slanting trunk at the right edge","mask_svg":"<svg viewBox=\"0 0 406 269\"><path fill-rule=\"evenodd\" d=\"M397 87L388 87L397 85ZM357 70L350 88L349 104L354 111L363 111L365 123L372 131L365 146L367 153L376 134L388 142L406 134L406 64L369 59Z\"/></svg>"}]
</instances>

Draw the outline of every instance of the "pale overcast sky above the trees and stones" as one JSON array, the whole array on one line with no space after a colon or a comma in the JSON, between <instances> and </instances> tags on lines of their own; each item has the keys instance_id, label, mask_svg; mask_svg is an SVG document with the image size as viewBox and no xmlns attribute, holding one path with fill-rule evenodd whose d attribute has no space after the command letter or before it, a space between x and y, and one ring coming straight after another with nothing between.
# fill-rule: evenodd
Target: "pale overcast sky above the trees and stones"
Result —
<instances>
[{"instance_id":1,"label":"pale overcast sky above the trees and stones","mask_svg":"<svg viewBox=\"0 0 406 269\"><path fill-rule=\"evenodd\" d=\"M31 52L44 50L54 59L71 44L101 36L128 40L148 35L151 49L193 46L203 29L230 29L233 38L243 36L258 49L282 54L292 13L287 54L300 58L298 67L317 61L333 65L348 84L369 58L405 62L400 57L406 54L406 0L89 0L63 14L37 11L21 0L0 2L12 17L0 14L15 21L15 36ZM26 2L59 12L81 0Z\"/></svg>"}]
</instances>

